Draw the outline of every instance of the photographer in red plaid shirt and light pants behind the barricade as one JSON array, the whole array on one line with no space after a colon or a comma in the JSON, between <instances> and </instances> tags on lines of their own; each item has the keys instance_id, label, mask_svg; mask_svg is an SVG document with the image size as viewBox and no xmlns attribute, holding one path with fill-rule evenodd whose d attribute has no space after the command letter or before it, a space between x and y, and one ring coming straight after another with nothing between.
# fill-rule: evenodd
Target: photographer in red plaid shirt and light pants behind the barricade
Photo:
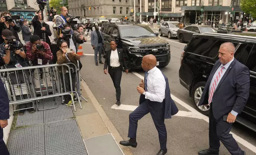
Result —
<instances>
[{"instance_id":1,"label":"photographer in red plaid shirt and light pants behind the barricade","mask_svg":"<svg viewBox=\"0 0 256 155\"><path fill-rule=\"evenodd\" d=\"M37 35L33 35L30 37L30 42L26 44L26 50L27 59L31 60L33 66L49 64L48 61L51 61L53 59L50 46L46 42L41 42L40 37ZM48 72L48 68L44 68L44 70L45 72ZM35 88L40 89L40 80L38 79L37 74L39 73L36 69L33 73ZM43 83L45 87L46 83L48 87L52 87L49 73L43 75Z\"/></svg>"}]
</instances>

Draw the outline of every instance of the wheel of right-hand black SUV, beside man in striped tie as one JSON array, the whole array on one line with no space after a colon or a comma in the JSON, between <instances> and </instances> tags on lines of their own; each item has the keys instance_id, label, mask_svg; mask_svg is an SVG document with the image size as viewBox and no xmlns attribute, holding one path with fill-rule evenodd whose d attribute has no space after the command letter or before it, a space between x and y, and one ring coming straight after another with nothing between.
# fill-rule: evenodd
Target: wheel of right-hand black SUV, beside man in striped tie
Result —
<instances>
[{"instance_id":1,"label":"wheel of right-hand black SUV, beside man in striped tie","mask_svg":"<svg viewBox=\"0 0 256 155\"><path fill-rule=\"evenodd\" d=\"M196 110L204 115L209 115L210 106L202 105L198 106L202 93L204 91L205 81L198 82L192 90L192 99Z\"/></svg>"}]
</instances>

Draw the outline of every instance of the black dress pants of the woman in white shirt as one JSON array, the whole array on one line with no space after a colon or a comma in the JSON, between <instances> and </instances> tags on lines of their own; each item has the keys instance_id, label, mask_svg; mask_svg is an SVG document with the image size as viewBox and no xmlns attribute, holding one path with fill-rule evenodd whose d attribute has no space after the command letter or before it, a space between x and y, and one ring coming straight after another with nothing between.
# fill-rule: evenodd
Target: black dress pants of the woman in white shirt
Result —
<instances>
[{"instance_id":1,"label":"black dress pants of the woman in white shirt","mask_svg":"<svg viewBox=\"0 0 256 155\"><path fill-rule=\"evenodd\" d=\"M122 68L117 67L117 68L109 68L109 75L114 83L114 88L116 89L116 100L120 100L121 96L121 78L122 78Z\"/></svg>"}]
</instances>

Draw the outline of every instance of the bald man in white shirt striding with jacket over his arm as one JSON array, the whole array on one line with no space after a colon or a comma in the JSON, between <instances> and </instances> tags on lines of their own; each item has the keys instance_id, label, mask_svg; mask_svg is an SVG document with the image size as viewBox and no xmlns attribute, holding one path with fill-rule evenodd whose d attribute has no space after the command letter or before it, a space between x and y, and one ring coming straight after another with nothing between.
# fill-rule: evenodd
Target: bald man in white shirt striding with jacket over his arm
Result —
<instances>
[{"instance_id":1,"label":"bald man in white shirt striding with jacket over his arm","mask_svg":"<svg viewBox=\"0 0 256 155\"><path fill-rule=\"evenodd\" d=\"M154 55L145 55L142 59L142 68L145 70L145 82L142 79L137 91L140 93L140 105L129 115L130 140L120 141L123 146L137 147L136 133L138 120L150 113L158 132L160 150L157 155L167 153L167 130L165 119L178 113L178 108L171 98L168 78L156 67L157 59Z\"/></svg>"}]
</instances>

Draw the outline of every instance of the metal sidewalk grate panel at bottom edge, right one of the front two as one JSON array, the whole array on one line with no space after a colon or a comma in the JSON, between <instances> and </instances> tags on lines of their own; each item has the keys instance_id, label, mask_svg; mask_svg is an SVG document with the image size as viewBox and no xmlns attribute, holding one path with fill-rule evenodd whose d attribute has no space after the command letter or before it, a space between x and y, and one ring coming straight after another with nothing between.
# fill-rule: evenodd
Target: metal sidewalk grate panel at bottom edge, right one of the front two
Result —
<instances>
[{"instance_id":1,"label":"metal sidewalk grate panel at bottom edge, right one of the front two","mask_svg":"<svg viewBox=\"0 0 256 155\"><path fill-rule=\"evenodd\" d=\"M87 155L75 119L45 124L46 155Z\"/></svg>"}]
</instances>

